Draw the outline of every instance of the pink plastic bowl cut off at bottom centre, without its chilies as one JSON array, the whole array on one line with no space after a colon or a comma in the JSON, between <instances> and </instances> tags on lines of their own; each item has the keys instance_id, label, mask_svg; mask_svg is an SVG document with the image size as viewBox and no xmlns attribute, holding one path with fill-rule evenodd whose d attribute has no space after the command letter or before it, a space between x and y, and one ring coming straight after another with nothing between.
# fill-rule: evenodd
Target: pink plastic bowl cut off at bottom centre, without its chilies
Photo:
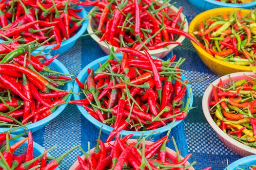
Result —
<instances>
[{"instance_id":1,"label":"pink plastic bowl cut off at bottom centre, without its chilies","mask_svg":"<svg viewBox=\"0 0 256 170\"><path fill-rule=\"evenodd\" d=\"M111 142L109 142L109 144L114 145L114 142L115 142L115 141L111 141ZM129 139L127 142L128 142L128 143L133 143L133 142L136 142L136 143L137 143L138 140L137 140L137 139ZM145 142L145 146L148 146L148 145L150 145L150 144L152 144L152 143L153 143L153 142L151 142L151 141L146 141L146 142ZM142 144L141 144L141 145L142 145ZM105 146L106 146L106 147L109 147L108 143L105 143ZM166 151L167 151L167 155L168 155L171 159L175 159L175 158L176 158L176 155L177 155L177 154L176 154L175 151L171 150L170 148L166 148ZM90 150L90 153L93 153L93 152L94 152L94 148ZM85 155L82 155L81 158L82 158L83 160L85 160ZM181 159L184 159L184 158L181 156ZM188 166L188 165L189 165L189 162L186 162L185 165ZM79 165L78 160L70 167L69 170L82 170L82 168L81 168L80 165ZM193 167L191 167L191 168L189 168L188 170L195 170L195 169L194 169Z\"/></svg>"}]
</instances>

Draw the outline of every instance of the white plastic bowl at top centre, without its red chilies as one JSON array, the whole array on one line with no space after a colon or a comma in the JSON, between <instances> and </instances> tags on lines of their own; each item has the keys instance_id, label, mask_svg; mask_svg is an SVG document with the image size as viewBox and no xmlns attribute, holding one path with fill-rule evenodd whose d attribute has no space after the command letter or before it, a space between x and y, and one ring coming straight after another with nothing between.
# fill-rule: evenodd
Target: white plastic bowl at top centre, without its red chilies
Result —
<instances>
[{"instance_id":1,"label":"white plastic bowl at top centre, without its red chilies","mask_svg":"<svg viewBox=\"0 0 256 170\"><path fill-rule=\"evenodd\" d=\"M159 1L159 2L162 2L162 1ZM171 6L170 7L172 10L174 10L176 13L178 12L178 9L175 7L175 6ZM92 11L96 10L96 7L94 7L92 9ZM188 21L186 19L186 17L184 16L183 13L180 14L180 18L181 20L185 22L184 24L184 28L183 28L183 31L184 32L188 32ZM96 35L96 34L93 34L93 28L95 27L96 23L93 19L92 16L89 17L89 24L88 24L88 27L87 27L87 32L88 34L91 35L91 37L98 43L99 47L106 53L106 54L110 54L110 50L108 49L108 46L105 44L104 41L101 41L99 42L99 37ZM182 41L185 39L185 36L179 36L178 39L177 39L177 42L180 42L182 43ZM113 47L109 44L110 47ZM150 53L150 55L152 56L155 56L155 57L158 57L158 58L163 58L165 57L170 51L172 51L175 47L177 47L178 45L177 44L172 44L172 45L169 45L169 46L166 46L164 48L160 48L160 49L157 49L157 50L150 50L148 51ZM114 50L116 51L117 47L114 47Z\"/></svg>"}]
</instances>

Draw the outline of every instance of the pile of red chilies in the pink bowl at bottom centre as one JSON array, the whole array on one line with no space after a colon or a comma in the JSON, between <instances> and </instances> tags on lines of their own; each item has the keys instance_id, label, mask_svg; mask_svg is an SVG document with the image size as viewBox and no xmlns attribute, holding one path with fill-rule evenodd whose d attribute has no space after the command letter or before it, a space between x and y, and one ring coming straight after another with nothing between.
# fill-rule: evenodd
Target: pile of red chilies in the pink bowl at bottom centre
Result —
<instances>
[{"instance_id":1,"label":"pile of red chilies in the pink bowl at bottom centre","mask_svg":"<svg viewBox=\"0 0 256 170\"><path fill-rule=\"evenodd\" d=\"M146 137L140 137L137 142L129 140L133 134L123 138L118 134L112 144L104 144L98 138L93 153L86 153L79 146L85 155L85 158L77 155L79 165L82 170L187 170L191 168L196 162L190 165L185 164L192 154L189 153L181 159L174 137L172 140L177 155L170 155L167 152L166 144L169 142L169 134L170 130L166 136L151 144L145 144ZM89 142L88 146L90 146ZM204 170L211 170L211 167Z\"/></svg>"}]
</instances>

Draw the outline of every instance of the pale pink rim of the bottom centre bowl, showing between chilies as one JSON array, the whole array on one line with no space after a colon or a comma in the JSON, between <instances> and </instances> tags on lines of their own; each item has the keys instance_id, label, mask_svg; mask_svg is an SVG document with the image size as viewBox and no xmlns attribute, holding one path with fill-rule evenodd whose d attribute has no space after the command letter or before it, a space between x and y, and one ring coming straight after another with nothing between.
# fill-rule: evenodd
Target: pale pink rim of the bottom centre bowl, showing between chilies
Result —
<instances>
[{"instance_id":1,"label":"pale pink rim of the bottom centre bowl, showing between chilies","mask_svg":"<svg viewBox=\"0 0 256 170\"><path fill-rule=\"evenodd\" d=\"M115 142L115 141L110 141L110 142L107 142L107 143L104 143L104 144L105 144L105 146L109 146L108 144L113 145L114 142ZM128 142L128 143L138 142L138 139L128 139L127 142ZM152 143L153 143L152 141L145 140L145 144L147 144L147 145L150 145L150 144L152 144ZM90 153L93 153L93 152L94 152L94 149L95 149L95 148L91 149L91 150L90 150ZM172 155L177 155L174 150L172 150L172 149L170 149L170 148L168 148L168 147L166 147L166 152L171 153ZM83 154L83 155L81 156L81 158L82 158L82 159L85 159L85 155ZM184 159L183 156L180 156L180 158L181 158L181 159ZM188 165L189 165L189 162L187 161L185 165L188 166ZM79 168L79 162L78 162L78 160L76 160L76 162L69 168L69 170L77 170L77 168ZM195 170L195 169L194 169L193 167L191 167L191 168L189 168L188 170Z\"/></svg>"}]
</instances>

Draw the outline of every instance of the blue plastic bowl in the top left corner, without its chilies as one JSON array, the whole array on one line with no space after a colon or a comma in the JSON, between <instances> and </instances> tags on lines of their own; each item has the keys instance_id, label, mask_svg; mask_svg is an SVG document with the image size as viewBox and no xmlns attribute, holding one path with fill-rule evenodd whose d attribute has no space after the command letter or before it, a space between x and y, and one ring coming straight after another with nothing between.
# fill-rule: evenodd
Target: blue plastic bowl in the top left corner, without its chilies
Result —
<instances>
[{"instance_id":1,"label":"blue plastic bowl in the top left corner, without its chilies","mask_svg":"<svg viewBox=\"0 0 256 170\"><path fill-rule=\"evenodd\" d=\"M83 8L82 6L77 6L76 8ZM86 17L87 16L87 12L85 11L85 9L83 9L81 12L78 13L78 15L82 18ZM56 55L56 54L63 54L64 52L66 51L69 51L70 49L73 48L73 46L75 45L75 43L77 42L77 40L80 38L80 36L82 34L84 34L85 30L87 29L87 26L88 26L88 20L85 20L83 23L82 23L82 26L81 28L79 29L79 31L77 32L77 34L75 34L74 36L72 36L71 38L65 40L65 41L62 41L61 42L61 46L59 49L57 50L52 50L51 51L51 55ZM2 40L0 39L0 42ZM47 46L47 48L44 50L44 52L48 52L51 48L55 47L56 44L53 44L53 45L49 45ZM42 47L39 47L36 51L41 51L42 49L44 49L45 46L42 46Z\"/></svg>"}]
</instances>

